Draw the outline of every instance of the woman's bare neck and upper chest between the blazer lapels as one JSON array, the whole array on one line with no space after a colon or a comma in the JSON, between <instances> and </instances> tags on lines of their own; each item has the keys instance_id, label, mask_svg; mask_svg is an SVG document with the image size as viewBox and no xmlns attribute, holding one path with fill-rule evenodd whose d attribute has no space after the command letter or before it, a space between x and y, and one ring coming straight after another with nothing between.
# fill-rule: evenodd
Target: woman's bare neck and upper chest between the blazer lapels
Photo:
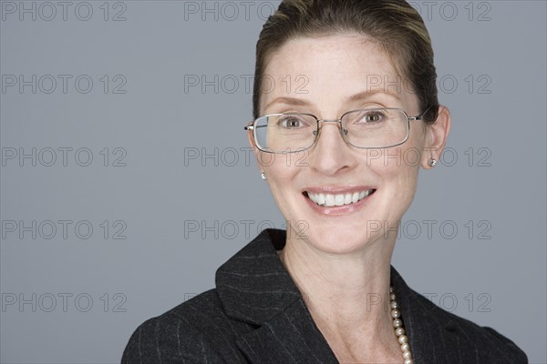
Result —
<instances>
[{"instance_id":1,"label":"woman's bare neck and upper chest between the blazer lapels","mask_svg":"<svg viewBox=\"0 0 547 364\"><path fill-rule=\"evenodd\" d=\"M393 241L371 242L351 254L320 251L302 239L287 239L280 253L315 323L332 339L358 336L393 347L389 278Z\"/></svg>"}]
</instances>

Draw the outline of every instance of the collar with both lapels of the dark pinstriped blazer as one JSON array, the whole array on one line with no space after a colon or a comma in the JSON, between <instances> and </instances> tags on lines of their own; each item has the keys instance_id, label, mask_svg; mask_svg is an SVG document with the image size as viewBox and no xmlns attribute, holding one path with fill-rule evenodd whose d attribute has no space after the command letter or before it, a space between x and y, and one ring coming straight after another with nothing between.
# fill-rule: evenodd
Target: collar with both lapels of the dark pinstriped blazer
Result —
<instances>
[{"instance_id":1,"label":"collar with both lapels of the dark pinstriped blazer","mask_svg":"<svg viewBox=\"0 0 547 364\"><path fill-rule=\"evenodd\" d=\"M284 230L264 230L216 272L216 288L227 316L257 328L239 337L237 345L250 362L337 363L277 256L285 237ZM447 344L458 339L446 312L408 288L393 267L391 285L415 362L460 362L447 350Z\"/></svg>"}]
</instances>

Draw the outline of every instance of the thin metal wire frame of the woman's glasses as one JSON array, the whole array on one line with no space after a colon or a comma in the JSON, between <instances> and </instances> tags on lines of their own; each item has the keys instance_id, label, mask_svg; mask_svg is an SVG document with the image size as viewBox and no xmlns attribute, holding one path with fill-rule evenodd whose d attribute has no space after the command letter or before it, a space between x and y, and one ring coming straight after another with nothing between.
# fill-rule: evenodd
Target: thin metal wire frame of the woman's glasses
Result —
<instances>
[{"instance_id":1,"label":"thin metal wire frame of the woman's glasses","mask_svg":"<svg viewBox=\"0 0 547 364\"><path fill-rule=\"evenodd\" d=\"M428 113L428 111L431 109L431 107L433 107L433 106L428 106L428 108L426 108L426 110L418 116L408 116L408 114L404 110L399 109L399 108L395 108L395 107L375 107L375 108L356 109L356 110L347 111L342 116L340 116L340 118L332 119L332 120L319 119L319 118L317 118L316 116L314 116L312 114L305 114L305 113L268 114L268 115L260 116L257 119L255 119L253 122L251 122L249 125L244 126L244 130L253 131L253 140L254 140L254 143L256 144L256 147L258 147L261 151L263 151L265 153L273 153L273 154L297 153L297 152L307 150L311 147L314 147L315 143L317 143L317 140L318 140L319 135L320 135L320 131L321 131L320 123L338 123L340 125L339 130L340 130L341 136L346 141L346 143L348 145L352 146L352 147L356 147L356 148L359 148L359 149L381 149L381 148L387 148L387 147L397 147L397 146L400 146L401 144L404 144L408 140L408 136L410 134L410 121L424 120L425 115ZM355 114L359 115L359 113L366 113L366 112L379 112L379 113L382 113L382 112L392 112L392 113L394 113L395 112L395 113L400 113L399 116L404 116L406 118L406 126L407 126L406 129L407 130L406 130L404 138L402 138L401 141L391 143L391 144L388 144L387 146L381 146L381 147L360 147L360 146L357 146L356 144L354 144L350 140L351 136L348 136L349 132L348 132L347 128L345 128L345 126L343 124L343 120L344 120L345 116L352 115L352 114L353 115L355 115ZM297 147L297 148L294 148L294 150L291 147L286 147L287 150L274 151L269 147L263 147L261 145L260 141L259 141L260 138L258 137L257 134L258 134L260 128L268 127L268 125L266 124L266 125L260 126L258 124L263 122L264 120L267 123L269 118L280 117L280 116L308 116L308 117L311 116L311 117L313 117L315 119L315 123L316 123L315 130L313 131L314 140L312 142L310 142L309 145L306 144L307 147ZM403 120L402 117L401 117L401 120Z\"/></svg>"}]
</instances>

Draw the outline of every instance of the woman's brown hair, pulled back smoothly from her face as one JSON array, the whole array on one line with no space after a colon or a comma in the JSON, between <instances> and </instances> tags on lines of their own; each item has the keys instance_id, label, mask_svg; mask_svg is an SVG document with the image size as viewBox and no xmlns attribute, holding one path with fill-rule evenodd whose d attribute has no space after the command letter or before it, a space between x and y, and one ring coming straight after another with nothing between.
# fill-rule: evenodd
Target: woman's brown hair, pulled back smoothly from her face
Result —
<instances>
[{"instance_id":1,"label":"woman's brown hair, pulled back smoothly from her face","mask_svg":"<svg viewBox=\"0 0 547 364\"><path fill-rule=\"evenodd\" d=\"M256 45L253 116L260 116L264 70L285 42L302 36L357 33L372 37L408 80L428 123L437 119L437 72L428 29L405 0L284 0L263 25Z\"/></svg>"}]
</instances>

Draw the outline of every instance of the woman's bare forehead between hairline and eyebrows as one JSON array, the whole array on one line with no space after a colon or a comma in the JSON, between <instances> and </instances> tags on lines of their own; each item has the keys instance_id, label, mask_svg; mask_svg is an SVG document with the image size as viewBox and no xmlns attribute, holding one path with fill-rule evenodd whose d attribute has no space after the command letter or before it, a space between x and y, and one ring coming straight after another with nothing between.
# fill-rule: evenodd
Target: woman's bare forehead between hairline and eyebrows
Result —
<instances>
[{"instance_id":1,"label":"woman's bare forehead between hairline and eyebrows","mask_svg":"<svg viewBox=\"0 0 547 364\"><path fill-rule=\"evenodd\" d=\"M412 102L404 86L387 53L366 35L297 37L270 56L261 109L277 97L343 105L351 96L366 92Z\"/></svg>"}]
</instances>

